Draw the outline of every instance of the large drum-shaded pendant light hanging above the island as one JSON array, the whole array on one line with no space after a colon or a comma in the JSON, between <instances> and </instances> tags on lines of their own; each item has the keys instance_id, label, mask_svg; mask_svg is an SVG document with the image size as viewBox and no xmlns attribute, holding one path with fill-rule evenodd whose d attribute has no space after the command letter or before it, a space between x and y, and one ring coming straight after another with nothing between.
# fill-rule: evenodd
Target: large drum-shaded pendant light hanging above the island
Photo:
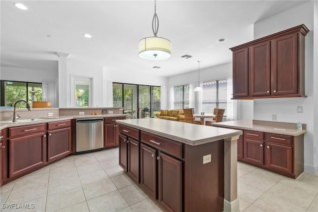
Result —
<instances>
[{"instance_id":1,"label":"large drum-shaded pendant light hanging above the island","mask_svg":"<svg viewBox=\"0 0 318 212\"><path fill-rule=\"evenodd\" d=\"M156 13L153 17L153 37L146 37L139 41L139 57L146 60L166 60L171 57L171 42L168 39L157 37L159 19Z\"/></svg>"}]
</instances>

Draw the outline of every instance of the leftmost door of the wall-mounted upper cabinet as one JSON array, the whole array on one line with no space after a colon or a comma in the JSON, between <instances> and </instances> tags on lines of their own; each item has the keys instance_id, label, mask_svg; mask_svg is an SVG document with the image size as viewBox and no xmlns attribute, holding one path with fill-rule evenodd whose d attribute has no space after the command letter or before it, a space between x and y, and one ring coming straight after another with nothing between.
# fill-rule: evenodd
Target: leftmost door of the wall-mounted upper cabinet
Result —
<instances>
[{"instance_id":1,"label":"leftmost door of the wall-mounted upper cabinet","mask_svg":"<svg viewBox=\"0 0 318 212\"><path fill-rule=\"evenodd\" d=\"M248 96L248 48L233 52L233 98Z\"/></svg>"}]
</instances>

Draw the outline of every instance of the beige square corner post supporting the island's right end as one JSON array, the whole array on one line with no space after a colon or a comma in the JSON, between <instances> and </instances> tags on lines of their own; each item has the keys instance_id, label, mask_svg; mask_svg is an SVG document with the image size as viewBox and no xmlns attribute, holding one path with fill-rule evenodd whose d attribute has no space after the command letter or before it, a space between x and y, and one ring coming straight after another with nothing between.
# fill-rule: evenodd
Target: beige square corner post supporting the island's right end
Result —
<instances>
[{"instance_id":1,"label":"beige square corner post supporting the island's right end","mask_svg":"<svg viewBox=\"0 0 318 212\"><path fill-rule=\"evenodd\" d=\"M239 212L238 139L224 140L224 212Z\"/></svg>"}]
</instances>

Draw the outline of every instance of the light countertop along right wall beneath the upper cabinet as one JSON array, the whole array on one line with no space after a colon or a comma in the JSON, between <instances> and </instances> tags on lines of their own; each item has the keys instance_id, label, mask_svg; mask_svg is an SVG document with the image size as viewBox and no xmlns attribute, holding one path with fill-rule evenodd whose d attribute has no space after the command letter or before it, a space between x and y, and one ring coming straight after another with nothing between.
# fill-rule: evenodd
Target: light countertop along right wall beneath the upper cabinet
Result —
<instances>
[{"instance_id":1,"label":"light countertop along right wall beneath the upper cabinet","mask_svg":"<svg viewBox=\"0 0 318 212\"><path fill-rule=\"evenodd\" d=\"M303 125L303 130L296 129L296 123L261 121L261 120L236 120L228 122L213 123L213 126L227 127L239 130L252 130L265 133L275 133L287 136L300 136L307 132L306 124Z\"/></svg>"}]
</instances>

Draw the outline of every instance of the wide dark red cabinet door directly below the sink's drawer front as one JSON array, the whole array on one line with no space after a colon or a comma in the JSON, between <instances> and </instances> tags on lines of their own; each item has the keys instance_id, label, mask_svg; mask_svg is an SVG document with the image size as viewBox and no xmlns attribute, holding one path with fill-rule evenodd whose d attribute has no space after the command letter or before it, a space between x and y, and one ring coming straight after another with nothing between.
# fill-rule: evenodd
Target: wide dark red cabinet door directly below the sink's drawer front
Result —
<instances>
[{"instance_id":1,"label":"wide dark red cabinet door directly below the sink's drawer front","mask_svg":"<svg viewBox=\"0 0 318 212\"><path fill-rule=\"evenodd\" d=\"M9 177L23 174L46 163L45 133L10 139L9 143Z\"/></svg>"}]
</instances>

